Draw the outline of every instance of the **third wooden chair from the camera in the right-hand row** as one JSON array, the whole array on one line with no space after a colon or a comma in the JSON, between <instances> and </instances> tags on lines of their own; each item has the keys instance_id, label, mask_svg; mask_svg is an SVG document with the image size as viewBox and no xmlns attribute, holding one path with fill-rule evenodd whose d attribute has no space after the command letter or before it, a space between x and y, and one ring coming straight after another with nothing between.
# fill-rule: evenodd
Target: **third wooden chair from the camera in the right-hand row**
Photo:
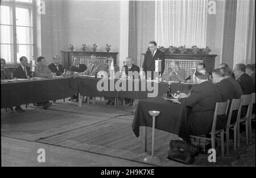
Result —
<instances>
[{"instance_id":1,"label":"third wooden chair from the camera in the right-hand row","mask_svg":"<svg viewBox=\"0 0 256 178\"><path fill-rule=\"evenodd\" d=\"M251 109L253 109L253 96L254 94L243 94L242 98L242 106L248 106L245 117L241 117L237 123L237 147L240 147L240 123L245 122L245 133L246 133L246 144L249 144L249 115L251 113ZM251 125L250 125L251 126Z\"/></svg>"}]
</instances>

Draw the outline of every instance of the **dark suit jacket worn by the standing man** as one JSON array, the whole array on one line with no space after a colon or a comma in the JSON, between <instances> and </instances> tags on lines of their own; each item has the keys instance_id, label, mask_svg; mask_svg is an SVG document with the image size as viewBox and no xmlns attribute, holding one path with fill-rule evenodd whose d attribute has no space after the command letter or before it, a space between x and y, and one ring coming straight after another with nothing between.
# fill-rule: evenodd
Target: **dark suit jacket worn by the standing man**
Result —
<instances>
[{"instance_id":1,"label":"dark suit jacket worn by the standing man","mask_svg":"<svg viewBox=\"0 0 256 178\"><path fill-rule=\"evenodd\" d=\"M162 51L159 51L158 49L156 49L156 52L153 58L152 58L152 53L149 50L146 52L144 56L143 71L146 72L146 74L147 74L147 71L151 71L151 72L155 71L155 60L157 60L158 58L162 60L161 74L163 75L164 68L165 68L164 53ZM151 74L151 78L153 78L153 74Z\"/></svg>"}]
</instances>

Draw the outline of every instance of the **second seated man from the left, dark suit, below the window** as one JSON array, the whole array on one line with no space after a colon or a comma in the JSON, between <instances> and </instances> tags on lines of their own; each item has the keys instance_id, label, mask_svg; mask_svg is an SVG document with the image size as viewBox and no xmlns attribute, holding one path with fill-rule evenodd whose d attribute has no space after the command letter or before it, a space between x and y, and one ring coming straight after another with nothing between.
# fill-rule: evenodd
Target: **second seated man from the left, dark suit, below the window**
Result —
<instances>
[{"instance_id":1,"label":"second seated man from the left, dark suit, below the window","mask_svg":"<svg viewBox=\"0 0 256 178\"><path fill-rule=\"evenodd\" d=\"M30 71L30 68L27 67L27 57L22 56L19 59L20 65L17 67L13 73L14 78L28 78L31 76L32 72ZM15 107L15 111L22 112L24 111L20 106Z\"/></svg>"}]
</instances>

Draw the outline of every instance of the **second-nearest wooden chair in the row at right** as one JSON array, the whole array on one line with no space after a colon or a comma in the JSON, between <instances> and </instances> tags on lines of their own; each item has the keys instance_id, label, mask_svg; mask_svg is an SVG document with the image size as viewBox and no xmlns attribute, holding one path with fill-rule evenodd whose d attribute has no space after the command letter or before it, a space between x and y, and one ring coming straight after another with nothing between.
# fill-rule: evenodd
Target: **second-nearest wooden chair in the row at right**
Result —
<instances>
[{"instance_id":1,"label":"second-nearest wooden chair in the row at right","mask_svg":"<svg viewBox=\"0 0 256 178\"><path fill-rule=\"evenodd\" d=\"M230 123L232 119L232 113L233 111L237 112L237 119L236 122ZM237 146L237 123L240 120L241 117L241 110L242 110L242 98L239 99L233 99L232 104L230 106L229 110L229 116L228 116L228 121L226 122L226 154L229 155L229 130L231 128L234 128L234 150L236 150Z\"/></svg>"}]
</instances>

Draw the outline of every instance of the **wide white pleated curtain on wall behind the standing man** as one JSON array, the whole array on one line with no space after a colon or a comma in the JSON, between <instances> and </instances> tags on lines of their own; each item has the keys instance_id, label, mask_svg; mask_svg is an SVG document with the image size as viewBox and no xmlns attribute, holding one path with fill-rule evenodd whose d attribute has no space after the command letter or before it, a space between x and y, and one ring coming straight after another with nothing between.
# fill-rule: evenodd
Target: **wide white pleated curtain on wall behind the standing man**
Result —
<instances>
[{"instance_id":1,"label":"wide white pleated curtain on wall behind the standing man","mask_svg":"<svg viewBox=\"0 0 256 178\"><path fill-rule=\"evenodd\" d=\"M155 1L155 40L160 46L205 47L208 0Z\"/></svg>"}]
</instances>

